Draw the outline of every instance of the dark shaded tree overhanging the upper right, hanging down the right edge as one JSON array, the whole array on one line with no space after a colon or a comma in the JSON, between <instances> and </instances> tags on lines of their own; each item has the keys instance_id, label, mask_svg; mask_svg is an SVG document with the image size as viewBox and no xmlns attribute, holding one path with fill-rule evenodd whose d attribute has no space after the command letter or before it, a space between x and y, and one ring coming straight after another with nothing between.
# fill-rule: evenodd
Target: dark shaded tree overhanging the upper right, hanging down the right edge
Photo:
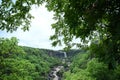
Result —
<instances>
[{"instance_id":1,"label":"dark shaded tree overhanging the upper right, hanging down the right edge","mask_svg":"<svg viewBox=\"0 0 120 80\"><path fill-rule=\"evenodd\" d=\"M48 0L46 6L55 12L57 21L52 25L53 45L64 41L69 47L74 37L85 42L97 35L96 48L107 50L101 51L103 56L99 53L100 60L108 63L109 69L120 63L120 0Z\"/></svg>"}]
</instances>

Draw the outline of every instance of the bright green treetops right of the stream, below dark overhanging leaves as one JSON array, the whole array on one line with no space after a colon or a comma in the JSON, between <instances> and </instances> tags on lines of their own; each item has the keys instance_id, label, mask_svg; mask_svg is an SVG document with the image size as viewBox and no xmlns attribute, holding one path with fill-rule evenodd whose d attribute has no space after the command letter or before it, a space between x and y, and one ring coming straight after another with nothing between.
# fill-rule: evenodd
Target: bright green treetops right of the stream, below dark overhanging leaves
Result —
<instances>
[{"instance_id":1,"label":"bright green treetops right of the stream, below dark overhanging leaves","mask_svg":"<svg viewBox=\"0 0 120 80\"><path fill-rule=\"evenodd\" d=\"M64 73L64 80L120 80L120 65L109 69L107 63L93 56L91 48L72 58L69 71Z\"/></svg>"}]
</instances>

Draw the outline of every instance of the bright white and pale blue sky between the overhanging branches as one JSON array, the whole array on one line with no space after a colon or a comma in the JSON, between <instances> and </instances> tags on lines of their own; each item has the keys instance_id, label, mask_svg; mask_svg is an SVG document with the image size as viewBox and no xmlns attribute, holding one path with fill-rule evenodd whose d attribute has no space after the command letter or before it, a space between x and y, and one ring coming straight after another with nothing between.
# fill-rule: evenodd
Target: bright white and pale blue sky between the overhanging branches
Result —
<instances>
[{"instance_id":1,"label":"bright white and pale blue sky between the overhanging branches","mask_svg":"<svg viewBox=\"0 0 120 80\"><path fill-rule=\"evenodd\" d=\"M45 5L42 5L41 7L33 6L30 13L34 16L34 19L31 20L29 31L23 32L21 29L13 33L0 31L0 37L17 37L19 45L22 46L53 50L63 49L63 46L52 47L52 41L49 40L50 35L54 34L54 30L51 29L51 24L55 22L52 19L53 12L48 12Z\"/></svg>"}]
</instances>

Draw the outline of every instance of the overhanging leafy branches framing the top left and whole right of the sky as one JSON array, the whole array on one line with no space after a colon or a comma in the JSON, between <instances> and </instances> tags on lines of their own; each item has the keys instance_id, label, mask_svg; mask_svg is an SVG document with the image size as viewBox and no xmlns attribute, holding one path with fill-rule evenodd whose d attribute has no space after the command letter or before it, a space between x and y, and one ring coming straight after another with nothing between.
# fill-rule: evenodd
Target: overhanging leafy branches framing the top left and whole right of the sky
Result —
<instances>
[{"instance_id":1,"label":"overhanging leafy branches framing the top left and whole right of the sky","mask_svg":"<svg viewBox=\"0 0 120 80\"><path fill-rule=\"evenodd\" d=\"M97 45L107 49L102 52L101 60L108 63L110 69L114 68L112 63L120 63L120 0L2 0L0 29L14 31L23 25L23 30L28 30L31 6L43 2L49 11L55 12L56 23L52 24L55 34L50 38L54 46L64 41L71 48L74 37L86 42L97 35L100 40Z\"/></svg>"}]
</instances>

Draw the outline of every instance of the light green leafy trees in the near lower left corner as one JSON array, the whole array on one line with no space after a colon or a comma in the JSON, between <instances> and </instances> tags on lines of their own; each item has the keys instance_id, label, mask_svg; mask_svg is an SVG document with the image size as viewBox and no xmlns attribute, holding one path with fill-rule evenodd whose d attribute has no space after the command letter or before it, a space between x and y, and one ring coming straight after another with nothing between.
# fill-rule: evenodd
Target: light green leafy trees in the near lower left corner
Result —
<instances>
[{"instance_id":1,"label":"light green leafy trees in the near lower left corner","mask_svg":"<svg viewBox=\"0 0 120 80\"><path fill-rule=\"evenodd\" d=\"M0 80L32 79L30 74L35 67L20 57L23 53L15 37L0 38Z\"/></svg>"}]
</instances>

